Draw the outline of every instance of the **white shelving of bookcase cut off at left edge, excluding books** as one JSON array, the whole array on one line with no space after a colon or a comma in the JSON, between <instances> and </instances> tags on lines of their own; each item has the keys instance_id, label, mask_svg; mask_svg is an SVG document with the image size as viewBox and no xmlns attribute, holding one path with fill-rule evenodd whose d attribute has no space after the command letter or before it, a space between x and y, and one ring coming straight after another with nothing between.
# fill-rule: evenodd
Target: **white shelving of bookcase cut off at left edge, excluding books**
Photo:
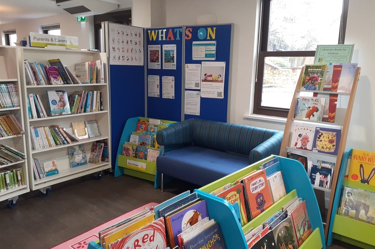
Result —
<instances>
[{"instance_id":1,"label":"white shelving of bookcase cut off at left edge, excluding books","mask_svg":"<svg viewBox=\"0 0 375 249\"><path fill-rule=\"evenodd\" d=\"M20 96L20 78L18 70L18 53L19 51L16 47L11 46L1 46L0 45L0 84L14 84L17 89L16 97L19 101L18 107L11 108L1 108L0 115L13 114L21 124L23 130L25 130L23 125L23 108L22 108L22 98ZM4 64L3 64L4 63ZM26 154L26 141L25 134L22 135L10 135L0 137L0 144L8 145L18 151L21 151ZM28 186L28 171L27 171L27 161L22 160L15 163L1 165L0 169L3 168L22 168L24 174L24 185L14 187L8 190L0 192L0 201L8 200L8 207L13 207L18 198L18 195L27 193L30 191Z\"/></svg>"}]
</instances>

